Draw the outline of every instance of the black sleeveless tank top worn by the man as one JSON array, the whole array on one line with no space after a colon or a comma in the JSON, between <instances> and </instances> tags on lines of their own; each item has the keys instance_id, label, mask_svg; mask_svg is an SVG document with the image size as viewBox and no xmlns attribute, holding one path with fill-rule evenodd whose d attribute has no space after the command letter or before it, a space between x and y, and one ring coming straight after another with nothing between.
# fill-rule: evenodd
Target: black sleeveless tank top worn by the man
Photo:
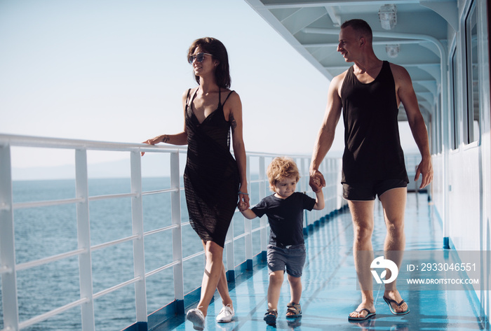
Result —
<instances>
[{"instance_id":1,"label":"black sleeveless tank top worn by the man","mask_svg":"<svg viewBox=\"0 0 491 331\"><path fill-rule=\"evenodd\" d=\"M389 62L371 83L361 83L353 66L341 87L344 120L342 183L385 179L408 181L397 122L396 83Z\"/></svg>"}]
</instances>

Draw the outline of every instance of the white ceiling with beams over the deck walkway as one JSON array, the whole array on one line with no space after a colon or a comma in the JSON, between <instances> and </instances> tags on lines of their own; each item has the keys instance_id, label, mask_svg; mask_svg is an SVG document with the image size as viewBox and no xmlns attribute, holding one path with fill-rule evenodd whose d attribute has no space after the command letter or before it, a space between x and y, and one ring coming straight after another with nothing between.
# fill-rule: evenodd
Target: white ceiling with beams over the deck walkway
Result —
<instances>
[{"instance_id":1,"label":"white ceiling with beams over the deck walkway","mask_svg":"<svg viewBox=\"0 0 491 331\"><path fill-rule=\"evenodd\" d=\"M389 3L395 4L397 9L397 24L391 30L382 29L379 22L379 8L387 4L386 1L245 1L329 79L351 65L336 51L339 25L353 18L365 20L373 30L375 54L408 70L419 106L429 120L438 100L442 80L440 66L447 62L448 31L457 27L456 0L391 1ZM399 45L397 57L387 55L388 44ZM405 120L404 111L399 111L399 119Z\"/></svg>"}]
</instances>

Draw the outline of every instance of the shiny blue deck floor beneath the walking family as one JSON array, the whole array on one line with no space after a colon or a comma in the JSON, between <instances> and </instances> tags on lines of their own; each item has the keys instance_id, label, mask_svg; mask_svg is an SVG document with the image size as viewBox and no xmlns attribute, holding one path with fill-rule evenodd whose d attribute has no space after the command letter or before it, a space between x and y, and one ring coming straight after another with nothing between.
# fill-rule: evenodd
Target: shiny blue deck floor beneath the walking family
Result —
<instances>
[{"instance_id":1,"label":"shiny blue deck floor beneath the walking family","mask_svg":"<svg viewBox=\"0 0 491 331\"><path fill-rule=\"evenodd\" d=\"M405 213L407 250L442 249L440 222L433 215L426 194L408 194ZM375 205L374 249L381 249L385 236L382 208ZM406 290L401 295L408 302L410 314L394 316L382 300L384 288L375 288L377 316L363 323L349 323L348 314L356 309L361 295L356 290L352 252L353 232L349 211L339 213L316 228L306 239L307 262L302 276L303 316L285 318L290 299L288 283L283 283L278 309L278 330L490 330L476 317L476 295L465 290ZM380 246L377 247L376 244ZM246 278L245 280L243 280ZM217 295L210 305L205 330L274 330L262 320L267 309L267 268L255 267L231 286L236 316L231 323L215 323L221 308ZM194 330L184 316L176 317L157 330Z\"/></svg>"}]
</instances>

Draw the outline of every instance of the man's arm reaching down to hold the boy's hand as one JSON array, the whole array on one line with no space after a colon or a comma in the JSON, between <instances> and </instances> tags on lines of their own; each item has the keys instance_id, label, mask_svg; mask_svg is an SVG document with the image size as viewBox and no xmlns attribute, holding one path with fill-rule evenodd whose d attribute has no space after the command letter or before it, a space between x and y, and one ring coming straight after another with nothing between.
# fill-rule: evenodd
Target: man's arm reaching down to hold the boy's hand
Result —
<instances>
[{"instance_id":1,"label":"man's arm reaching down to hold the boy's hand","mask_svg":"<svg viewBox=\"0 0 491 331\"><path fill-rule=\"evenodd\" d=\"M325 186L324 176L320 171L318 171L318 168L321 165L322 160L324 160L325 155L331 148L332 141L334 141L337 122L339 122L342 108L341 97L339 97L339 87L341 86L345 75L346 73L342 73L341 75L336 76L332 79L329 85L328 104L325 107L324 120L317 135L314 152L312 153L312 161L310 164L309 185L314 192ZM320 185L318 185L319 182Z\"/></svg>"}]
</instances>

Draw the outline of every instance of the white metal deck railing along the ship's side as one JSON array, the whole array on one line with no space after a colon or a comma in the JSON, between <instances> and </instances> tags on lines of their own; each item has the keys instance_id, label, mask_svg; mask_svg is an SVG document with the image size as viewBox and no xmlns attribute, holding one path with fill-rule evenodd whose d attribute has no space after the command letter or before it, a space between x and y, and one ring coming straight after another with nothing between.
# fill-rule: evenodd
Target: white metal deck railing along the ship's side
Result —
<instances>
[{"instance_id":1,"label":"white metal deck railing along the ship's side","mask_svg":"<svg viewBox=\"0 0 491 331\"><path fill-rule=\"evenodd\" d=\"M11 147L25 146L31 148L61 148L75 151L75 181L76 181L76 197L74 199L59 199L41 202L13 202L13 182L12 182L12 162L11 162ZM90 196L88 192L88 150L107 150L124 152L130 155L130 178L131 192L128 194L119 195L103 195ZM143 192L142 191L142 163L140 152L145 153L167 153L170 155L170 188L159 191ZM84 331L95 330L95 313L94 300L98 297L105 296L120 288L133 285L135 286L135 307L137 323L147 322L147 290L146 279L148 276L162 272L165 269L173 269L173 285L175 300L184 300L184 278L186 275L183 272L183 262L191 260L203 255L203 251L194 253L189 256L183 256L182 253L182 227L189 226L189 222L181 220L181 190L180 185L180 154L186 153L186 148L177 148L173 146L147 146L141 143L111 143L101 141L81 141L68 139L52 139L32 136L12 136L0 134L0 277L1 277L1 294L2 307L4 317L4 329L6 330L21 330L31 325L44 321L52 316L62 314L68 309L74 307L81 308L82 329ZM257 183L258 189L251 190L253 185L249 185L251 197L257 200L262 199L270 194L268 189L267 176L265 174L267 164L275 157L275 154L267 153L247 153L248 164L248 181L250 184ZM297 190L310 192L309 189L309 163L310 158L302 155L290 155L297 162L301 180L297 185ZM255 164L255 168L251 171L251 162ZM321 171L325 175L328 186L324 188L325 209L323 211L312 211L306 213L305 227L308 228L315 220L322 218L330 211L340 209L344 202L340 197L339 191L339 176L341 162L338 159L326 158L322 164ZM255 179L251 179L251 174ZM171 199L171 219L172 224L167 227L154 229L144 232L143 227L143 207L142 196L163 194L170 195ZM90 216L89 204L95 200L113 199L118 197L130 197L131 213L132 213L132 228L133 234L130 237L117 239L114 241L105 242L95 246L91 245L90 240ZM15 242L14 242L14 210L27 209L32 207L56 206L60 204L76 205L76 229L78 237L78 248L74 251L67 251L58 255L52 255L40 260L33 260L16 264L15 260ZM238 212L238 211L236 211ZM266 250L268 231L267 219L263 217L260 220L260 225L253 228L253 223L244 219L244 231L234 237L234 223L231 223L231 229L227 234L225 242L224 260L226 268L234 274L236 265L241 264L234 258L234 242L238 239L245 241L245 258L253 260L253 257L262 251ZM145 272L144 260L144 238L159 232L172 232L173 238L173 262L168 265L161 265L150 272ZM260 232L260 247L253 251L253 233ZM98 293L93 293L93 274L91 265L91 254L101 248L108 246L116 246L126 242L133 243L133 266L134 277L128 279L116 286L106 288ZM150 252L151 253L151 252ZM62 307L48 311L45 314L29 318L26 321L19 319L18 305L18 283L17 272L24 269L46 265L48 263L67 259L77 256L79 258L79 283L80 283L80 299ZM163 302L162 305L168 304Z\"/></svg>"}]
</instances>

